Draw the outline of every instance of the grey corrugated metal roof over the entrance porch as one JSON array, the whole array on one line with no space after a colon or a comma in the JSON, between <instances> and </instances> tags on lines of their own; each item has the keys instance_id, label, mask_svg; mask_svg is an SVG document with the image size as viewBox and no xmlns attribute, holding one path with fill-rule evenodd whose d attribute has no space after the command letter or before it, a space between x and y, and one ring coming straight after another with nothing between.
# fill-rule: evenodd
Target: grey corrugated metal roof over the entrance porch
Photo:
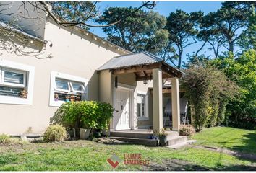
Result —
<instances>
[{"instance_id":1,"label":"grey corrugated metal roof over the entrance porch","mask_svg":"<svg viewBox=\"0 0 256 173\"><path fill-rule=\"evenodd\" d=\"M116 56L111 60L107 61L103 64L98 71L108 70L113 68L122 68L122 67L129 67L129 66L140 66L150 63L160 63L163 62L161 58L154 56L148 52L142 53L134 53L125 56Z\"/></svg>"}]
</instances>

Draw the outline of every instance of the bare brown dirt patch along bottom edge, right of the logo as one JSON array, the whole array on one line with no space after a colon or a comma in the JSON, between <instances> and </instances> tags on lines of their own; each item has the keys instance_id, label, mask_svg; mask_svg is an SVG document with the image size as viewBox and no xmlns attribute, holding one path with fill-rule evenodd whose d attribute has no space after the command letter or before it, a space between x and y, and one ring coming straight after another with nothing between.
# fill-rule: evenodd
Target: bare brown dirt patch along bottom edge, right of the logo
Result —
<instances>
[{"instance_id":1,"label":"bare brown dirt patch along bottom edge, right of the logo","mask_svg":"<svg viewBox=\"0 0 256 173\"><path fill-rule=\"evenodd\" d=\"M210 171L210 169L178 159L163 159L161 164L151 162L144 167L148 171Z\"/></svg>"}]
</instances>

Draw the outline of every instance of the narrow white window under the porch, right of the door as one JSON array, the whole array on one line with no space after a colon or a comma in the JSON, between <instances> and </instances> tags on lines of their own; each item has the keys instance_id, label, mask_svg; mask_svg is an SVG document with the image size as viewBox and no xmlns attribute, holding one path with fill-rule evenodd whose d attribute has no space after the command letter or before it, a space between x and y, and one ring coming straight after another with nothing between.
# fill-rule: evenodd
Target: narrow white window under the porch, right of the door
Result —
<instances>
[{"instance_id":1,"label":"narrow white window under the porch, right of the door","mask_svg":"<svg viewBox=\"0 0 256 173\"><path fill-rule=\"evenodd\" d=\"M148 100L147 94L138 92L137 94L137 117L139 120L148 120Z\"/></svg>"}]
</instances>

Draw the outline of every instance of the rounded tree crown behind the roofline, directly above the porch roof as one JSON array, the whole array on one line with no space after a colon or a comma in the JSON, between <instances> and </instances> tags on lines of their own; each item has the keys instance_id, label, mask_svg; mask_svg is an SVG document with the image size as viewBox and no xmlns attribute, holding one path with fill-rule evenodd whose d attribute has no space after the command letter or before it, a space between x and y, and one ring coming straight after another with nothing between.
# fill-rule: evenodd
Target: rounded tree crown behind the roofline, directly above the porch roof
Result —
<instances>
[{"instance_id":1,"label":"rounded tree crown behind the roofline, directly above the porch roof","mask_svg":"<svg viewBox=\"0 0 256 173\"><path fill-rule=\"evenodd\" d=\"M111 7L103 12L103 17L96 21L108 25L120 17L133 12L135 8ZM166 18L158 12L139 10L111 27L103 27L108 40L131 52L148 51L158 53L166 46L168 31L164 29Z\"/></svg>"}]
</instances>

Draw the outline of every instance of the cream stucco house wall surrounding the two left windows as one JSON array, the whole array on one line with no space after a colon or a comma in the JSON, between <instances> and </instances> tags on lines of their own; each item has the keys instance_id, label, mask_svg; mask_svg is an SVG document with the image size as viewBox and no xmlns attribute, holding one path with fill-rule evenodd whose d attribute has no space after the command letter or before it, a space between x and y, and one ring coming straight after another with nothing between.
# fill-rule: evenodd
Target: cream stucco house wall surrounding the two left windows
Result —
<instances>
[{"instance_id":1,"label":"cream stucco house wall surrounding the two left windows","mask_svg":"<svg viewBox=\"0 0 256 173\"><path fill-rule=\"evenodd\" d=\"M74 35L67 28L59 28L50 22L46 24L45 39L53 45L51 48L46 45L46 53L51 53L53 58L39 60L0 51L1 59L35 67L33 105L0 104L0 133L25 133L29 128L33 133L45 130L57 109L49 106L51 71L89 79L88 99L98 100L95 69L119 56L114 48L108 50L108 46L93 40L90 35Z\"/></svg>"}]
</instances>

